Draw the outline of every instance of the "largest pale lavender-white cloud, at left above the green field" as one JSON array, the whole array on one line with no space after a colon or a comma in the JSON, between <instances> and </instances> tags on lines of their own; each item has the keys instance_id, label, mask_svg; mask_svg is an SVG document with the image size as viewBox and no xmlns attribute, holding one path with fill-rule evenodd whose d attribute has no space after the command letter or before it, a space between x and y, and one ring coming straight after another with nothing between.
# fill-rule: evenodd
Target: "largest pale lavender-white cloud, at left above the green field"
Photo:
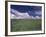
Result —
<instances>
[{"instance_id":1,"label":"largest pale lavender-white cloud, at left above the green field","mask_svg":"<svg viewBox=\"0 0 46 37\"><path fill-rule=\"evenodd\" d=\"M16 18L16 19L28 19L28 18L31 18L31 16L29 16L29 14L26 12L26 13L21 13L17 10L14 10L14 9L11 9L11 17L12 18Z\"/></svg>"}]
</instances>

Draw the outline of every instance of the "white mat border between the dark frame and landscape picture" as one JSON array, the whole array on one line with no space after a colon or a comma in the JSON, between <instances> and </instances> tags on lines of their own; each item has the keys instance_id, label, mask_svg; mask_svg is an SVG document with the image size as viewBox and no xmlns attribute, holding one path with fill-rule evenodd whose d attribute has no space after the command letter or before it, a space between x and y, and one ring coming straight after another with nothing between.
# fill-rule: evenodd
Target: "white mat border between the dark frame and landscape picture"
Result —
<instances>
[{"instance_id":1,"label":"white mat border between the dark frame and landscape picture","mask_svg":"<svg viewBox=\"0 0 46 37\"><path fill-rule=\"evenodd\" d=\"M10 24L10 5L29 5L29 6L42 6L42 30L41 31L24 31L24 32L11 32ZM34 3L22 3L22 2L8 2L8 35L19 35L19 34L35 34L44 33L44 4Z\"/></svg>"}]
</instances>

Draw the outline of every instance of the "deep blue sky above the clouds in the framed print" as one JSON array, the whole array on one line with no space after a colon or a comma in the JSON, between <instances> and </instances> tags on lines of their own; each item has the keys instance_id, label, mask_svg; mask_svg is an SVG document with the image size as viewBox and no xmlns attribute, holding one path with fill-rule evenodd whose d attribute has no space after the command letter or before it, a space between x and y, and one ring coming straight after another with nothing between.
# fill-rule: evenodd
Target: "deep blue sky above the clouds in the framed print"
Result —
<instances>
[{"instance_id":1,"label":"deep blue sky above the clouds in the framed print","mask_svg":"<svg viewBox=\"0 0 46 37\"><path fill-rule=\"evenodd\" d=\"M11 5L11 9L21 13L28 13L30 16L41 16L41 6Z\"/></svg>"}]
</instances>

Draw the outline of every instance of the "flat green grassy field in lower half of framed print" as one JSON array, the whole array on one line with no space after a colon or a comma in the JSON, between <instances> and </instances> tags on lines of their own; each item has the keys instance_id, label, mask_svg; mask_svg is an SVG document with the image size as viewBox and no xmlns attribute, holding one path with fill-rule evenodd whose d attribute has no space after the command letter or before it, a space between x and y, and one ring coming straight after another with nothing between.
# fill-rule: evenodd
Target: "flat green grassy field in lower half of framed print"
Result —
<instances>
[{"instance_id":1,"label":"flat green grassy field in lower half of framed print","mask_svg":"<svg viewBox=\"0 0 46 37\"><path fill-rule=\"evenodd\" d=\"M11 19L11 31L41 30L41 19Z\"/></svg>"}]
</instances>

